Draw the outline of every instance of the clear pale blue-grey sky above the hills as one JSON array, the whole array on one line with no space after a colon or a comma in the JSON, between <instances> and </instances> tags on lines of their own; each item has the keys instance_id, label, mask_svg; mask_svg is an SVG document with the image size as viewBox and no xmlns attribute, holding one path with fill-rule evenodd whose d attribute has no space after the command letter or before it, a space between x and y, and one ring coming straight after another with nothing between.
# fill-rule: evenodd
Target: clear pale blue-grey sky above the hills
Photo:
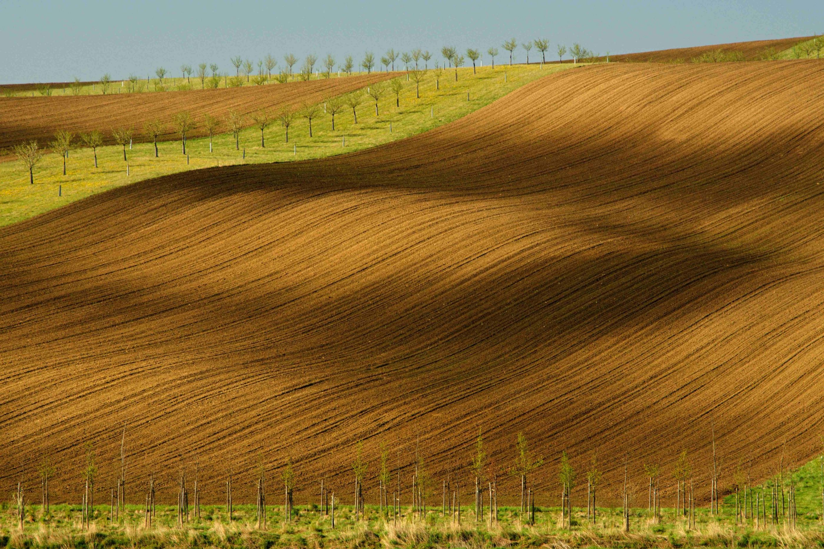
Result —
<instances>
[{"instance_id":1,"label":"clear pale blue-grey sky above the hills","mask_svg":"<svg viewBox=\"0 0 824 549\"><path fill-rule=\"evenodd\" d=\"M810 0L0 0L0 83L145 77L160 66L180 76L181 63L200 62L233 72L238 54L255 63L269 53L279 63L289 52L352 54L357 63L367 49L378 59L389 48L444 44L485 52L511 37L620 54L821 33L821 8Z\"/></svg>"}]
</instances>

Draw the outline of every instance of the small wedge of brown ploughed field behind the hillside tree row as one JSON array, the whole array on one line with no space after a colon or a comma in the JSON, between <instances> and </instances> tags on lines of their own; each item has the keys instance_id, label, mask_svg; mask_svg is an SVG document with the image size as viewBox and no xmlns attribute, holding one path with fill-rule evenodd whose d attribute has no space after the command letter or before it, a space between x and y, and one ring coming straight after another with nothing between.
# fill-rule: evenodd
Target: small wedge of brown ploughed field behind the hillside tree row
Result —
<instances>
[{"instance_id":1,"label":"small wedge of brown ploughed field behind the hillside tree row","mask_svg":"<svg viewBox=\"0 0 824 549\"><path fill-rule=\"evenodd\" d=\"M324 97L358 90L395 74L373 72L363 76L215 90L0 97L0 148L30 139L37 139L40 147L47 147L59 129L75 134L100 130L105 143L110 145L114 143L112 128L133 128L135 142L152 141L143 134L143 125L153 119L160 119L167 125L162 139L174 139L179 136L172 126L172 117L184 110L194 116L198 126L190 132L190 137L208 135L202 124L204 114L224 120L221 131L226 132L225 118L230 110L248 114L265 108L276 115L286 105L298 108L304 101L317 103Z\"/></svg>"}]
</instances>

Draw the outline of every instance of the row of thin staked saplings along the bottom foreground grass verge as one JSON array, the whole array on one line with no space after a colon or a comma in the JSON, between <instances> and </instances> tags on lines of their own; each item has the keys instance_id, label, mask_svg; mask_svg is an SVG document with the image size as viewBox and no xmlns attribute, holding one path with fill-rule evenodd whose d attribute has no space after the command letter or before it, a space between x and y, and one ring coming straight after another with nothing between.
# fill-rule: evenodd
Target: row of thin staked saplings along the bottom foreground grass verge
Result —
<instances>
[{"instance_id":1,"label":"row of thin staked saplings along the bottom foreground grass verge","mask_svg":"<svg viewBox=\"0 0 824 549\"><path fill-rule=\"evenodd\" d=\"M110 513L108 520L116 522L119 515L124 512L126 505L126 462L124 457L125 428L120 439L119 467L115 468L116 478L110 491ZM709 514L718 515L721 513L721 498L718 487L719 480L719 459L715 453L715 440L712 440L712 470L709 475ZM530 448L527 436L522 432L517 434L512 449L512 458L508 465L499 463L496 458L490 458L487 454L483 433L479 430L475 439L472 453L464 465L452 468L447 472L446 477L436 479L428 471L428 463L424 456L416 449L414 462L401 466L400 457L396 456L396 465L391 467L391 454L386 444L381 444L380 453L377 456L377 473L369 474L370 463L363 450L363 442L358 442L355 449L355 458L351 463L351 484L349 494L352 495L353 520L361 521L365 515L366 490L364 486L372 485L377 490L377 502L372 501L372 505L377 503L377 513L387 521L396 523L400 519L425 519L428 514L440 513L443 518L449 519L452 523L461 524L462 519L470 519L475 523L488 522L491 526L499 520L499 478L513 477L520 486L519 505L517 507L517 517L522 523L535 523L536 510L536 488L534 486L536 474L545 466L543 456L537 455ZM821 462L821 482L822 482L822 514L824 521L824 451L819 458ZM45 517L49 514L49 480L57 472L54 463L47 458L39 469L40 473L40 499L41 515ZM176 510L178 524L187 523L190 519L199 519L200 511L200 484L199 466L194 465L194 483L190 485L185 467L180 468L176 474ZM686 450L678 454L676 462L672 467L672 482L675 483L674 517L685 520L687 528L695 528L695 479L690 458ZM550 473L550 477L552 473ZM662 519L661 498L662 484L666 481L662 476L662 469L658 463L644 463L644 476L648 482L648 517L658 523ZM96 466L96 454L90 443L86 444L85 463L82 469L82 528L89 528L90 521L95 519L94 498L95 486L98 477ZM593 453L588 460L588 468L585 471L587 484L587 522L597 523L597 495L602 489L603 473L600 469L597 454ZM578 487L578 472L572 463L569 454L562 451L559 456L559 465L555 472L556 482L559 486L560 520L559 527L572 528L574 523L572 516L574 513L574 502L572 496L575 488ZM280 485L282 486L281 503L283 504L283 519L292 521L294 514L294 493L298 489L298 475L291 458L287 460L279 472ZM736 523L750 523L756 528L763 528L768 523L775 525L781 523L795 527L798 517L796 506L796 480L793 471L784 466L784 454L782 452L778 468L775 472L774 482L756 484L750 477L749 471L745 472L741 463L738 464L733 473L733 482L728 491L733 495L733 516ZM234 502L232 498L233 482L236 481L232 472L227 472L225 482L225 502L226 513L230 522L234 520ZM259 465L255 475L256 489L256 524L257 528L267 528L267 484L268 471L265 467L262 454L259 456ZM439 482L438 482L439 481ZM340 505L339 497L335 496L335 489L330 489L330 483L323 477L318 481L320 486L318 491L313 491L314 495L310 500L317 498L319 512L325 516L330 516L331 525L335 527L335 506ZM466 495L467 491L474 484L474 502L472 504L471 516L462 518L461 509L466 509L466 505L461 503L461 495ZM615 484L615 479L613 479ZM789 484L789 486L788 486ZM191 500L193 506L190 508L190 486L193 488ZM462 488L463 486L463 488ZM630 513L632 509L638 512L637 490L630 480L629 457L624 457L624 472L620 486L620 499L623 505L623 529L630 531ZM155 472L151 472L147 479L147 490L143 494L145 506L143 508L144 526L152 526L152 520L156 515L156 495L161 486L157 482ZM138 489L139 491L139 489ZM339 492L340 493L340 492ZM613 494L614 495L614 494ZM440 497L439 497L440 496ZM20 528L23 528L23 519L26 516L26 495L23 482L18 482L14 501L17 506ZM767 503L769 501L769 509ZM634 505L635 504L635 505ZM404 514L403 509L411 509ZM578 507L583 514L583 507ZM769 514L769 519L768 519Z\"/></svg>"}]
</instances>

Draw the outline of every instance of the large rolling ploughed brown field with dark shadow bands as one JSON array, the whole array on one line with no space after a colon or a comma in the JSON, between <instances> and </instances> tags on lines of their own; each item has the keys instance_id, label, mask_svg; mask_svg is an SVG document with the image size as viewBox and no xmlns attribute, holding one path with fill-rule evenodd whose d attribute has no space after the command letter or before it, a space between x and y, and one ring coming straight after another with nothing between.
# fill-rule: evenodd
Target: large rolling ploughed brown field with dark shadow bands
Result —
<instances>
[{"instance_id":1,"label":"large rolling ploughed brown field with dark shadow bands","mask_svg":"<svg viewBox=\"0 0 824 549\"><path fill-rule=\"evenodd\" d=\"M819 63L600 65L385 147L2 228L0 483L51 453L77 499L93 440L109 486L124 424L129 497L154 469L170 501L184 463L250 501L260 460L291 457L300 499L326 475L349 503L357 440L370 477L383 441L405 490L416 447L469 486L479 427L499 465L519 430L550 458L539 504L562 449L597 451L603 501L625 453L642 482L688 449L705 486L713 422L722 488L739 458L808 458L822 149Z\"/></svg>"}]
</instances>

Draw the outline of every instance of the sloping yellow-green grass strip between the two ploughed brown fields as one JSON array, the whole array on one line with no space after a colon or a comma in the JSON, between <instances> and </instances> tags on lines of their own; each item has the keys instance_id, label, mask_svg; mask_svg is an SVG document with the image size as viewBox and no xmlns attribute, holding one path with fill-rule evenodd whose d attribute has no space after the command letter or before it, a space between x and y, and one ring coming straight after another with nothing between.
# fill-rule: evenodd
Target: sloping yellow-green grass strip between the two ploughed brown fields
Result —
<instances>
[{"instance_id":1,"label":"sloping yellow-green grass strip between the two ploughed brown fields","mask_svg":"<svg viewBox=\"0 0 824 549\"><path fill-rule=\"evenodd\" d=\"M265 129L265 147L260 146L260 129L251 127L241 132L241 151L236 150L231 133L214 137L212 153L208 149L208 138L189 139L188 165L180 141L160 143L158 158L154 157L152 143L134 143L131 150L127 147L129 176L126 175L123 149L119 146L98 148L97 169L90 148L74 149L69 153L65 176L62 158L47 154L35 167L33 185L29 184L26 168L10 159L0 162L0 226L36 216L91 194L160 175L218 164L307 160L375 147L452 122L528 82L573 67L572 64L545 65L543 68L540 65L496 66L494 70L491 67L479 68L477 74L472 73L471 67L464 67L458 69L457 81L452 69L443 72L439 90L436 90L433 72L430 71L420 83L419 99L415 97L414 81L401 77L404 89L400 92L400 107L396 106L396 96L387 86L386 95L378 105L380 115L376 116L374 100L364 94L363 104L358 107L357 124L354 123L352 109L344 108L335 115L333 132L330 115L321 111L312 120L311 138L307 120L296 117L289 128L289 142L286 143L283 127L274 120ZM251 121L247 119L247 123ZM104 130L108 132L110 128L101 128L101 131ZM140 128L135 130L140 131ZM243 158L243 149L246 149L246 159Z\"/></svg>"}]
</instances>

